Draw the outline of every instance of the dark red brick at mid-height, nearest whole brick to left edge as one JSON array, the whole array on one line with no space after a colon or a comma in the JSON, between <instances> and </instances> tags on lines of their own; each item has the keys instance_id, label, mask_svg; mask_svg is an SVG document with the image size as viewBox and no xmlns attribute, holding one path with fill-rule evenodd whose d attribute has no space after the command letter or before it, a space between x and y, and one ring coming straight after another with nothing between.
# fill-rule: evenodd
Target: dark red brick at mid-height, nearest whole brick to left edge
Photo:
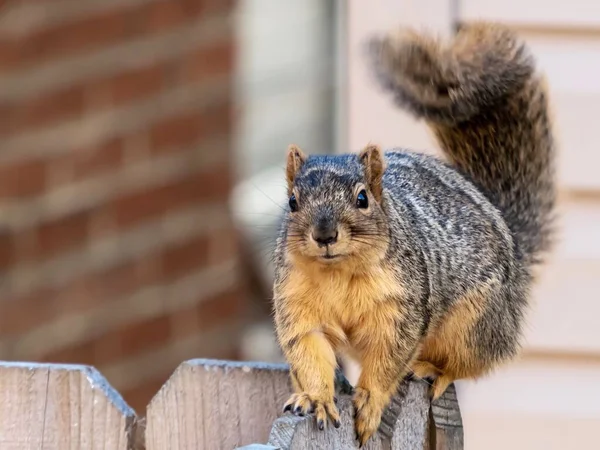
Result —
<instances>
[{"instance_id":1,"label":"dark red brick at mid-height, nearest whole brick to left edge","mask_svg":"<svg viewBox=\"0 0 600 450\"><path fill-rule=\"evenodd\" d=\"M88 238L89 226L89 211L78 212L43 223L37 232L39 258L81 246Z\"/></svg>"}]
</instances>

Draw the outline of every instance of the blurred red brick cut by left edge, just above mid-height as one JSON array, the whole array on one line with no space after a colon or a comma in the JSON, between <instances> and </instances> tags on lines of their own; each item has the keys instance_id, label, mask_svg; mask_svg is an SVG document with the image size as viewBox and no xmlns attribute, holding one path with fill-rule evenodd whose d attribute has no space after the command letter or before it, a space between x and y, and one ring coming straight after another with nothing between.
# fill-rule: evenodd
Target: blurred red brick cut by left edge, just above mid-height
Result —
<instances>
[{"instance_id":1,"label":"blurred red brick cut by left edge, just above mid-height","mask_svg":"<svg viewBox=\"0 0 600 450\"><path fill-rule=\"evenodd\" d=\"M32 197L43 192L46 166L43 159L0 165L0 198Z\"/></svg>"}]
</instances>

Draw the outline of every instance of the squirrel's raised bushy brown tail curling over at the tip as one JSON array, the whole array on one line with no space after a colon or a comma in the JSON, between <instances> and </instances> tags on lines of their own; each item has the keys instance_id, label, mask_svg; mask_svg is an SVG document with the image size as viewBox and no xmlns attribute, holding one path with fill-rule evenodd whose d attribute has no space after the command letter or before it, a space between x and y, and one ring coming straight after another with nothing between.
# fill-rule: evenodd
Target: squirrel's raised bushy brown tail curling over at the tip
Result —
<instances>
[{"instance_id":1,"label":"squirrel's raised bushy brown tail curling over at the tip","mask_svg":"<svg viewBox=\"0 0 600 450\"><path fill-rule=\"evenodd\" d=\"M369 45L382 85L502 212L526 263L552 243L554 140L545 83L509 29L479 22L448 45L400 30Z\"/></svg>"}]
</instances>

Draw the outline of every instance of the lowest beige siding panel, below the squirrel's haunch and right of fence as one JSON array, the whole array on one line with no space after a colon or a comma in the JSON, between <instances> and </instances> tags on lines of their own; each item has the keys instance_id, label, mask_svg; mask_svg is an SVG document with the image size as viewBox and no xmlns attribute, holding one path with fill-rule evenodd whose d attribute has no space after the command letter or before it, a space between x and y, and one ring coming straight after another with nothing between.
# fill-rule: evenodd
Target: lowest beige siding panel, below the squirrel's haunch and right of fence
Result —
<instances>
[{"instance_id":1,"label":"lowest beige siding panel, below the squirrel's haunch and right of fence","mask_svg":"<svg viewBox=\"0 0 600 450\"><path fill-rule=\"evenodd\" d=\"M598 448L600 361L523 358L458 382L465 450Z\"/></svg>"}]
</instances>

